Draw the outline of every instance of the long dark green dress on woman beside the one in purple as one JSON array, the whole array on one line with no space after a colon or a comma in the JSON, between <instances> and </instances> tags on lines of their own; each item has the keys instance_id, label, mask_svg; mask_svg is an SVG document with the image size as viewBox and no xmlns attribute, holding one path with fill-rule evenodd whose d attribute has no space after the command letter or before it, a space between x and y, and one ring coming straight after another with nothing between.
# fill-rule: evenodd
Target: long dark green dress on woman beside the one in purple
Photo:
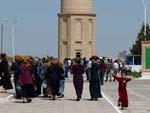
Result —
<instances>
[{"instance_id":1,"label":"long dark green dress on woman beside the one in purple","mask_svg":"<svg viewBox=\"0 0 150 113\"><path fill-rule=\"evenodd\" d=\"M99 65L92 63L91 79L90 79L90 95L91 98L102 98L100 76L99 76Z\"/></svg>"}]
</instances>

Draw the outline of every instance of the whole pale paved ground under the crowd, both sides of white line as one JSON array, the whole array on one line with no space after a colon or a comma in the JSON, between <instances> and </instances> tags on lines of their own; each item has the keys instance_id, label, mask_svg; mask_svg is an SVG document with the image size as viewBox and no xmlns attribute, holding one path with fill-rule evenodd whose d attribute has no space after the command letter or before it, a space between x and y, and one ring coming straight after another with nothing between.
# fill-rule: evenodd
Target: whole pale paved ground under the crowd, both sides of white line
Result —
<instances>
[{"instance_id":1,"label":"whole pale paved ground under the crowd, both sides of white line","mask_svg":"<svg viewBox=\"0 0 150 113\"><path fill-rule=\"evenodd\" d=\"M52 101L49 98L34 98L32 103L0 93L0 113L150 113L150 81L134 80L128 84L129 108L121 111L117 105L117 82L105 82L102 86L103 98L90 101L89 84L84 83L83 98L75 101L76 95L72 81L67 81L65 98ZM5 95L5 96L4 96Z\"/></svg>"}]
</instances>

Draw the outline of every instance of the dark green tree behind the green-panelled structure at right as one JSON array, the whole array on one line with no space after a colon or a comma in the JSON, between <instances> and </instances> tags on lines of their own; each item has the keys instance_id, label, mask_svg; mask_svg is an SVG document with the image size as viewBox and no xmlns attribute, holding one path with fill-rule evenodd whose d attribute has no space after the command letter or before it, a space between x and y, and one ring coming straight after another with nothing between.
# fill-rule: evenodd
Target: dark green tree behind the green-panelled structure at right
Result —
<instances>
[{"instance_id":1,"label":"dark green tree behind the green-panelled structure at right","mask_svg":"<svg viewBox=\"0 0 150 113\"><path fill-rule=\"evenodd\" d=\"M141 41L148 41L148 40L150 40L150 27L147 24L146 36L145 36L144 35L144 24L143 24L141 31L138 33L135 43L132 45L132 48L130 49L130 53L132 55L141 55Z\"/></svg>"}]
</instances>

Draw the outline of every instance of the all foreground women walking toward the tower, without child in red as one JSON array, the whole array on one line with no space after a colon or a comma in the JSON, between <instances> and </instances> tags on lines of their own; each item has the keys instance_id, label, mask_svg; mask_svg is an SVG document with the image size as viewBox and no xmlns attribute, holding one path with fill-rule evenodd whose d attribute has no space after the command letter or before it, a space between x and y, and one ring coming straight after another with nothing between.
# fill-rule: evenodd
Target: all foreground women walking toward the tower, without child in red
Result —
<instances>
[{"instance_id":1,"label":"all foreground women walking toward the tower, without child in red","mask_svg":"<svg viewBox=\"0 0 150 113\"><path fill-rule=\"evenodd\" d=\"M98 64L92 58L92 69L90 79L91 100L101 98L100 78L98 74ZM9 68L11 67L11 68ZM16 56L15 62L9 66L5 54L1 55L0 77L3 89L6 92L12 89L11 71L14 75L14 88L16 98L23 98L23 102L31 102L31 97L49 96L53 100L56 97L64 97L65 72L63 64L55 59L35 60L28 56ZM81 59L74 59L71 68L73 74L73 84L77 94L77 101L82 98L84 66Z\"/></svg>"}]
</instances>

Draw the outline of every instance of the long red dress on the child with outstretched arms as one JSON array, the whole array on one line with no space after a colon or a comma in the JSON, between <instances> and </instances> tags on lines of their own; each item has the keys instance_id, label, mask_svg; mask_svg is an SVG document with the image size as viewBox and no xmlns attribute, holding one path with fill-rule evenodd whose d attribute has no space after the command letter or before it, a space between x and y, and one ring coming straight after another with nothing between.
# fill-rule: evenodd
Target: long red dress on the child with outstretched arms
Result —
<instances>
[{"instance_id":1,"label":"long red dress on the child with outstretched arms","mask_svg":"<svg viewBox=\"0 0 150 113\"><path fill-rule=\"evenodd\" d=\"M119 82L118 101L122 103L122 107L128 107L128 94L127 94L126 86L127 86L127 82L129 82L131 78L122 78L117 76L114 76L114 78Z\"/></svg>"}]
</instances>

